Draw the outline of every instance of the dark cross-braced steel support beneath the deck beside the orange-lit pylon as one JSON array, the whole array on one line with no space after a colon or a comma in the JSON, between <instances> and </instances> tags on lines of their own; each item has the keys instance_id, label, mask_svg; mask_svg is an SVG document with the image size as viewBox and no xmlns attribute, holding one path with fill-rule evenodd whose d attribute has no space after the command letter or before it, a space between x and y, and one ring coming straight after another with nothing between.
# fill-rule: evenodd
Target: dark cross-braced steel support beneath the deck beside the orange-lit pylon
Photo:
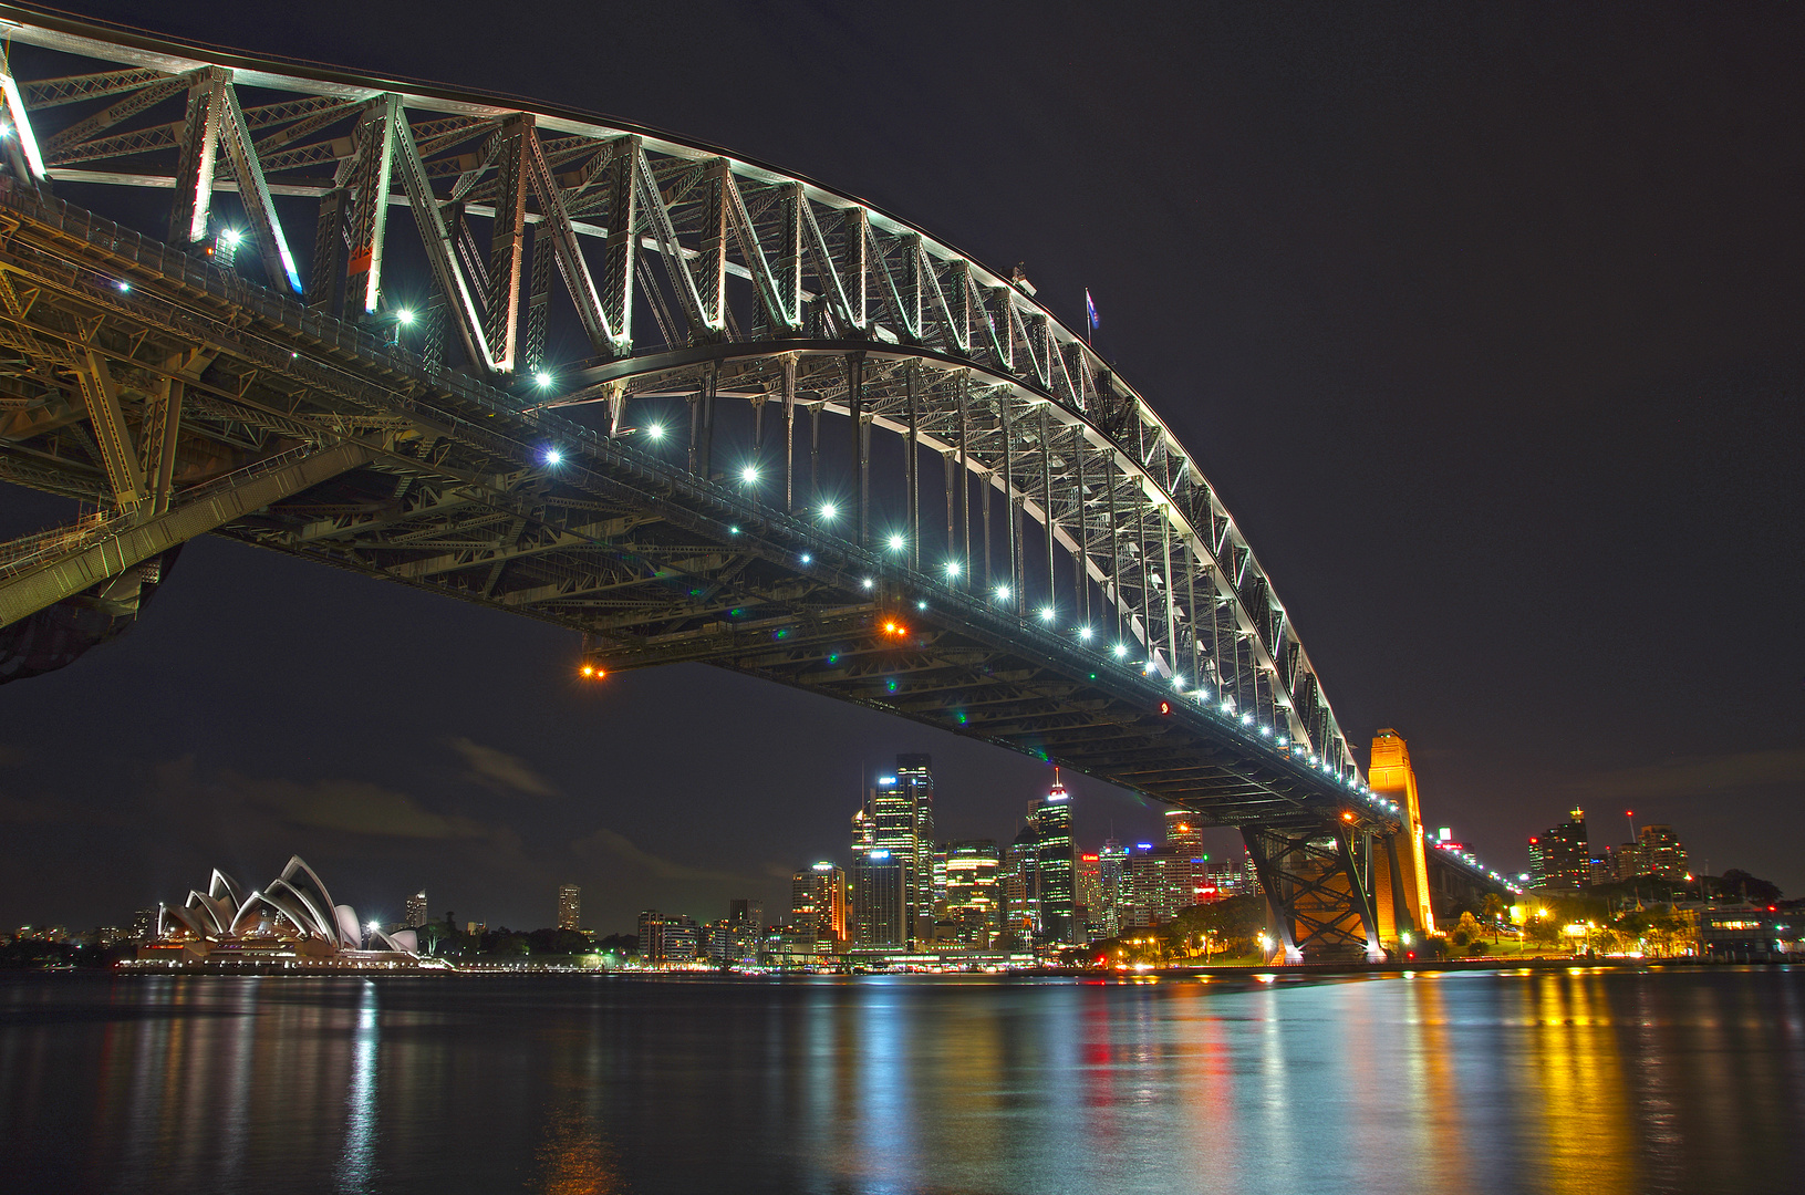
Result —
<instances>
[{"instance_id":1,"label":"dark cross-braced steel support beneath the deck beside the orange-lit pylon","mask_svg":"<svg viewBox=\"0 0 1805 1195\"><path fill-rule=\"evenodd\" d=\"M1379 962L1377 921L1366 877L1370 850L1347 827L1312 830L1244 829L1278 926L1285 962Z\"/></svg>"}]
</instances>

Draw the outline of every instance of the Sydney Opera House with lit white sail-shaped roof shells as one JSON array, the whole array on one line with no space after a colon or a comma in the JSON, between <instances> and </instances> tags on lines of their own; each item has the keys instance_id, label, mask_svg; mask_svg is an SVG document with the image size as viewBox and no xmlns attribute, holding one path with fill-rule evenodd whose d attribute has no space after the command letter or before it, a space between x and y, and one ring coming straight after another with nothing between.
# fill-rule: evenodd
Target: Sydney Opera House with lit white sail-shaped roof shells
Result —
<instances>
[{"instance_id":1,"label":"Sydney Opera House with lit white sail-shaped roof shells","mask_svg":"<svg viewBox=\"0 0 1805 1195\"><path fill-rule=\"evenodd\" d=\"M218 868L206 892L164 904L157 937L137 951L141 966L179 968L417 968L413 930L384 933L334 904L325 883L294 856L265 888L245 892Z\"/></svg>"}]
</instances>

